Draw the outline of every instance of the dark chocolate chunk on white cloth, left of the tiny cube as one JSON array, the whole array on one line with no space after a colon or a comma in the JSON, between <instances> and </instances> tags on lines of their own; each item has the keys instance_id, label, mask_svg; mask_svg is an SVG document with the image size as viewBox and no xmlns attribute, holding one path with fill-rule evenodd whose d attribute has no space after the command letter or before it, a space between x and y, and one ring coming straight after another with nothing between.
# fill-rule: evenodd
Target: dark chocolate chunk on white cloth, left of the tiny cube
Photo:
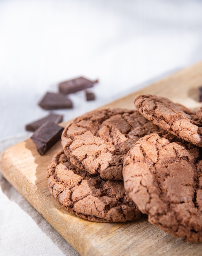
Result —
<instances>
[{"instance_id":1,"label":"dark chocolate chunk on white cloth, left of the tiny cube","mask_svg":"<svg viewBox=\"0 0 202 256\"><path fill-rule=\"evenodd\" d=\"M46 110L73 108L73 104L69 98L63 94L56 94L47 92L43 99L40 101L39 106Z\"/></svg>"}]
</instances>

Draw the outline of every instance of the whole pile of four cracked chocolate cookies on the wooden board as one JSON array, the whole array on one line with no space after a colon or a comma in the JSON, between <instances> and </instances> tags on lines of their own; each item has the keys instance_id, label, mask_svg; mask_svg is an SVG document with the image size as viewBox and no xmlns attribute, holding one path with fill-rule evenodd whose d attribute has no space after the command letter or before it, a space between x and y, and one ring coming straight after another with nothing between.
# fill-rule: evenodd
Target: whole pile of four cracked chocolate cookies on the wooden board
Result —
<instances>
[{"instance_id":1,"label":"whole pile of four cracked chocolate cookies on the wooden board","mask_svg":"<svg viewBox=\"0 0 202 256\"><path fill-rule=\"evenodd\" d=\"M202 242L202 108L153 95L140 95L135 107L74 119L48 167L50 192L87 220L143 213L175 237Z\"/></svg>"}]
</instances>

